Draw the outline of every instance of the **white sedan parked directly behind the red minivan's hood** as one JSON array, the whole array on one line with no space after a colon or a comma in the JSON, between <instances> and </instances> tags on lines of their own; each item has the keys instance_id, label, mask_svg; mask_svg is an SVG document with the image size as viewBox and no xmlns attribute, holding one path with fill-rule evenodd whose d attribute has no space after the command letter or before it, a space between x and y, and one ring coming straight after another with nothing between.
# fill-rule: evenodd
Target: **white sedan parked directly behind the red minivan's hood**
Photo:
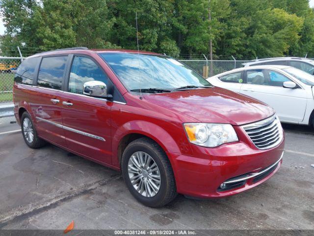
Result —
<instances>
[{"instance_id":1,"label":"white sedan parked directly behind the red minivan's hood","mask_svg":"<svg viewBox=\"0 0 314 236\"><path fill-rule=\"evenodd\" d=\"M250 66L207 81L268 104L282 122L314 126L314 76L302 70L285 65Z\"/></svg>"}]
</instances>

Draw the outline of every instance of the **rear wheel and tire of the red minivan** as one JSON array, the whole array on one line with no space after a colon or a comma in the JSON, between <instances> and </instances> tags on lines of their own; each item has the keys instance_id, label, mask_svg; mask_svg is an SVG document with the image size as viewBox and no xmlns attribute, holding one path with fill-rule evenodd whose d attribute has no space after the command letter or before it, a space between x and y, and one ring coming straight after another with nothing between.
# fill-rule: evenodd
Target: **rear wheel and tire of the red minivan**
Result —
<instances>
[{"instance_id":1,"label":"rear wheel and tire of the red minivan","mask_svg":"<svg viewBox=\"0 0 314 236\"><path fill-rule=\"evenodd\" d=\"M24 141L29 148L41 148L46 144L45 140L38 137L33 121L27 112L22 114L21 128Z\"/></svg>"}]
</instances>

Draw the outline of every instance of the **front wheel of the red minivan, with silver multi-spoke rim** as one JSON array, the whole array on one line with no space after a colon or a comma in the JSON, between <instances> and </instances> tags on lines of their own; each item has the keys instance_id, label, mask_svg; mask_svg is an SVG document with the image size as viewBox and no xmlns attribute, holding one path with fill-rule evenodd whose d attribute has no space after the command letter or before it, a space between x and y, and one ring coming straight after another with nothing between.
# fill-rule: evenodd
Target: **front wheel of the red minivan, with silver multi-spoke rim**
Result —
<instances>
[{"instance_id":1,"label":"front wheel of the red minivan, with silver multi-spoke rim","mask_svg":"<svg viewBox=\"0 0 314 236\"><path fill-rule=\"evenodd\" d=\"M170 161L153 140L132 141L122 155L122 175L134 198L148 207L162 207L177 196Z\"/></svg>"}]
</instances>

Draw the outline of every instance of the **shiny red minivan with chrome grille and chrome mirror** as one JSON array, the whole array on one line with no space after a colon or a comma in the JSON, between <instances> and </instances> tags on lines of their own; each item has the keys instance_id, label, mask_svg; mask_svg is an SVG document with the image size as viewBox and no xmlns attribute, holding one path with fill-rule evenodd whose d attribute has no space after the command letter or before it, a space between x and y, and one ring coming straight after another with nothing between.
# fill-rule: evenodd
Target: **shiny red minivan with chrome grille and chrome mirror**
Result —
<instances>
[{"instance_id":1,"label":"shiny red minivan with chrome grille and chrome mirror","mask_svg":"<svg viewBox=\"0 0 314 236\"><path fill-rule=\"evenodd\" d=\"M213 87L168 56L61 49L26 58L14 114L30 148L46 142L121 170L131 194L160 207L177 193L230 196L273 176L284 131L273 109Z\"/></svg>"}]
</instances>

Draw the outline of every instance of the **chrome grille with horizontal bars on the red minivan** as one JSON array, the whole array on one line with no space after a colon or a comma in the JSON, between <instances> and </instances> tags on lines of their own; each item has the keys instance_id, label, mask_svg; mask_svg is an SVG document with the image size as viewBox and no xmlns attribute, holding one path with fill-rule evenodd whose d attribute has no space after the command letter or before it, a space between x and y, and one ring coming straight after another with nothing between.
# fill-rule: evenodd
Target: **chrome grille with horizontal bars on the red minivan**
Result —
<instances>
[{"instance_id":1,"label":"chrome grille with horizontal bars on the red minivan","mask_svg":"<svg viewBox=\"0 0 314 236\"><path fill-rule=\"evenodd\" d=\"M280 144L283 139L283 129L275 115L242 127L259 149L273 148Z\"/></svg>"}]
</instances>

